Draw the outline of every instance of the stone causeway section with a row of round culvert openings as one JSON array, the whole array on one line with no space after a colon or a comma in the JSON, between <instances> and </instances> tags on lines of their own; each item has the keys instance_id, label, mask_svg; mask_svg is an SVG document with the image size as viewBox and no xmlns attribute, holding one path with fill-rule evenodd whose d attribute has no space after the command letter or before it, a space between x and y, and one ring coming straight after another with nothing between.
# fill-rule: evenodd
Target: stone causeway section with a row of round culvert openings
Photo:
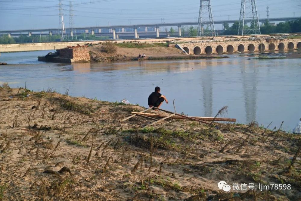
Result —
<instances>
[{"instance_id":1,"label":"stone causeway section with a row of round culvert openings","mask_svg":"<svg viewBox=\"0 0 301 201\"><path fill-rule=\"evenodd\" d=\"M190 55L253 53L301 49L301 39L269 39L179 44Z\"/></svg>"}]
</instances>

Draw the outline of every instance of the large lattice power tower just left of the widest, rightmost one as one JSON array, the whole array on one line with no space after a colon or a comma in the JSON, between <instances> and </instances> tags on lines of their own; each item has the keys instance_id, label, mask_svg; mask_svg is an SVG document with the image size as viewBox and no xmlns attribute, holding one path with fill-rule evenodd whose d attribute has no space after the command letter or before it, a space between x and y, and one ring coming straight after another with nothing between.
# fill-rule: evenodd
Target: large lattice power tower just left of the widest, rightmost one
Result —
<instances>
[{"instance_id":1,"label":"large lattice power tower just left of the widest, rightmost one","mask_svg":"<svg viewBox=\"0 0 301 201\"><path fill-rule=\"evenodd\" d=\"M203 30L204 22L209 22L208 30ZM215 36L214 22L212 17L210 0L200 0L200 12L199 12L199 21L197 24L197 34L201 35L211 35Z\"/></svg>"}]
</instances>

